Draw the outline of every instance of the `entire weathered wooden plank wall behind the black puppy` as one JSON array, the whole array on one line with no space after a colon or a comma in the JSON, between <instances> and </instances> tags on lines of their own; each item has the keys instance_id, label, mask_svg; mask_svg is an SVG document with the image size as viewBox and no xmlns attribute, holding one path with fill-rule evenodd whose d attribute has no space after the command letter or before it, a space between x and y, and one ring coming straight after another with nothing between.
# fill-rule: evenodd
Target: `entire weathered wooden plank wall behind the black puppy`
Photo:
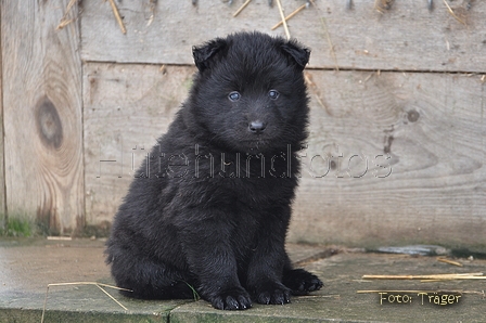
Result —
<instances>
[{"instance_id":1,"label":"entire weathered wooden plank wall behind the black puppy","mask_svg":"<svg viewBox=\"0 0 486 323\"><path fill-rule=\"evenodd\" d=\"M187 96L193 44L236 30L283 35L270 30L280 15L266 0L238 17L241 1L116 1L126 35L108 2L84 0L73 9L75 23L54 33L66 2L1 8L9 215L38 217L49 205L64 221L51 225L61 233L112 221L133 167ZM286 13L303 2L282 1ZM354 0L347 9L346 1L317 1L289 22L291 35L312 50L310 138L289 240L484 251L486 2L449 1L456 17L442 1L432 11L426 1L394 1L383 13L373 2ZM24 20L49 23L29 29L13 18L29 7L33 17ZM9 37L20 34L30 40ZM51 61L64 62L64 72L39 86ZM59 79L63 95L46 86ZM47 146L31 121L46 95L63 131L72 131L62 150ZM14 151L18 144L25 147Z\"/></svg>"}]
</instances>

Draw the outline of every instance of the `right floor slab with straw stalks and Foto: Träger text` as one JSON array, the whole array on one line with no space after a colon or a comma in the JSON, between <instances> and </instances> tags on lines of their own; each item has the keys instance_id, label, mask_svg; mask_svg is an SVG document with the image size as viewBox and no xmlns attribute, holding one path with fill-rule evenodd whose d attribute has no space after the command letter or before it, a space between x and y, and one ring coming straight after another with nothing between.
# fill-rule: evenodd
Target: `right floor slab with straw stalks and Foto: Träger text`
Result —
<instances>
[{"instance_id":1,"label":"right floor slab with straw stalks and Foto: Tr\u00e4ger text","mask_svg":"<svg viewBox=\"0 0 486 323\"><path fill-rule=\"evenodd\" d=\"M434 257L342 253L308 263L324 281L322 290L294 297L286 306L259 306L245 312L222 312L204 301L180 306L170 322L486 322L485 280L421 283L419 281L364 281L363 274L433 274L484 272L486 261L461 260L462 268ZM410 290L380 295L358 290ZM414 292L411 292L414 290ZM459 302L435 305L437 290L462 292ZM419 295L419 293L427 295ZM389 295L407 295L411 302L389 303ZM430 302L432 296L432 302ZM384 300L380 300L381 298ZM423 303L422 303L423 297ZM402 300L402 299L400 299Z\"/></svg>"}]
</instances>

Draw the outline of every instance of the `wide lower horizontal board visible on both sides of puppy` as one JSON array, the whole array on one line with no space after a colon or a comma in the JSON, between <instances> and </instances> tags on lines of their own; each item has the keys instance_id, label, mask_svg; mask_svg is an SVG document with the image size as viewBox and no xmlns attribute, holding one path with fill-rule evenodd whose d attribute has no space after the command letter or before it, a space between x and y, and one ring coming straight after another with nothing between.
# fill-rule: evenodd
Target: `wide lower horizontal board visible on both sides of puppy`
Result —
<instances>
[{"instance_id":1,"label":"wide lower horizontal board visible on both sides of puppy","mask_svg":"<svg viewBox=\"0 0 486 323\"><path fill-rule=\"evenodd\" d=\"M89 223L112 220L132 167L167 129L193 72L85 66ZM486 245L486 85L478 76L306 76L310 138L290 241Z\"/></svg>"}]
</instances>

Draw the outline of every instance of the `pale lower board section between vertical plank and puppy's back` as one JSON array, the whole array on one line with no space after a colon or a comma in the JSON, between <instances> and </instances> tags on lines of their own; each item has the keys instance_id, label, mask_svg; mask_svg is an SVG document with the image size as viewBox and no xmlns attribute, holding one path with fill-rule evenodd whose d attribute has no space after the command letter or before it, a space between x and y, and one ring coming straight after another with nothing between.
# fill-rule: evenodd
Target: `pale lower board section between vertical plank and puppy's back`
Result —
<instances>
[{"instance_id":1,"label":"pale lower board section between vertical plank and puppy's back","mask_svg":"<svg viewBox=\"0 0 486 323\"><path fill-rule=\"evenodd\" d=\"M89 224L112 222L145 154L167 130L192 67L86 64L85 182Z\"/></svg>"}]
</instances>

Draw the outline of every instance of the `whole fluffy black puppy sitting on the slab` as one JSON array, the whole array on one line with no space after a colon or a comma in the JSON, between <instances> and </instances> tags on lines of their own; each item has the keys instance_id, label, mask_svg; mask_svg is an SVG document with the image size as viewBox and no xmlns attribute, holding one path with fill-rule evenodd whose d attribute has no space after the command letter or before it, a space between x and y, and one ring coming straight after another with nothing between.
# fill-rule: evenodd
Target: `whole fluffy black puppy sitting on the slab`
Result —
<instances>
[{"instance_id":1,"label":"whole fluffy black puppy sitting on the slab","mask_svg":"<svg viewBox=\"0 0 486 323\"><path fill-rule=\"evenodd\" d=\"M285 253L307 138L295 41L240 33L193 48L189 99L115 217L107 262L125 295L192 298L217 309L286 303L322 282Z\"/></svg>"}]
</instances>

